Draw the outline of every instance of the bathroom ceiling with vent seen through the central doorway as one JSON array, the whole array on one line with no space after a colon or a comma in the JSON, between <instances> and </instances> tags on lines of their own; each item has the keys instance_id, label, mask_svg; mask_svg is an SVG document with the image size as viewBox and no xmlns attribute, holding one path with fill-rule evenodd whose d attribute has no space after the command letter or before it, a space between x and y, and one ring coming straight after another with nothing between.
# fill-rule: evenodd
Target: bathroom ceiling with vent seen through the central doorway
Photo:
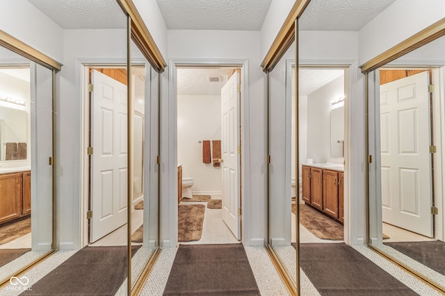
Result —
<instances>
[{"instance_id":1,"label":"bathroom ceiling with vent seen through the central doorway","mask_svg":"<svg viewBox=\"0 0 445 296\"><path fill-rule=\"evenodd\" d=\"M178 68L177 94L221 94L221 88L232 76L233 68ZM209 77L220 76L220 82L209 82Z\"/></svg>"}]
</instances>

